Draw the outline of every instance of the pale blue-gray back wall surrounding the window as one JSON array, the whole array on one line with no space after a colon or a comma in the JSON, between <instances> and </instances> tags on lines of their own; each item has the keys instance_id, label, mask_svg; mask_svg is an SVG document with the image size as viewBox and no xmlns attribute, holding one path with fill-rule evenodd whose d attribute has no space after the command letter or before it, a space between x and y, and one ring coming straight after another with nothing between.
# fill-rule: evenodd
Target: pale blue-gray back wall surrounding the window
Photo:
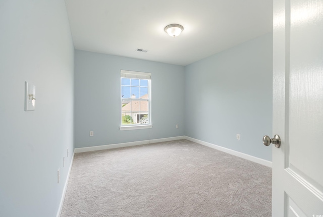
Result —
<instances>
[{"instance_id":1,"label":"pale blue-gray back wall surrounding the window","mask_svg":"<svg viewBox=\"0 0 323 217\"><path fill-rule=\"evenodd\" d=\"M151 129L120 131L120 70L151 73ZM75 51L77 148L184 135L184 67ZM179 129L176 129L176 124ZM94 136L89 136L94 131Z\"/></svg>"}]
</instances>

